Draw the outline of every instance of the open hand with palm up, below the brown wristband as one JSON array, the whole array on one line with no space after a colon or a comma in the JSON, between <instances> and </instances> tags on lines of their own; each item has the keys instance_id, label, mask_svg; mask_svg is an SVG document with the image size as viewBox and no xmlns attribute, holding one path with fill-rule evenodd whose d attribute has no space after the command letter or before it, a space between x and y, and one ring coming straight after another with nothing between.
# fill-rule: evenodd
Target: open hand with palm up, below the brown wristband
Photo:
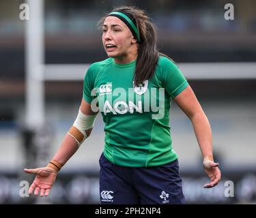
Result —
<instances>
[{"instance_id":1,"label":"open hand with palm up, below the brown wristband","mask_svg":"<svg viewBox=\"0 0 256 218\"><path fill-rule=\"evenodd\" d=\"M35 180L32 185L29 187L29 194L33 193L38 196L40 191L40 196L48 196L51 187L55 183L55 178L57 176L57 172L51 170L49 168L35 168L35 169L24 169L25 172L30 174L35 174Z\"/></svg>"}]
</instances>

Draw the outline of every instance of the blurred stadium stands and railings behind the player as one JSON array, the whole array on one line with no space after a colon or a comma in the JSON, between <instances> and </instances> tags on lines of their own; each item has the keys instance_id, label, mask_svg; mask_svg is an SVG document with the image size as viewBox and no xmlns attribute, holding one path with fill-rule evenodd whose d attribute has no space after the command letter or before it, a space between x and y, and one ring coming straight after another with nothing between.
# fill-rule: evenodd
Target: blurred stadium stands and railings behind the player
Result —
<instances>
[{"instance_id":1,"label":"blurred stadium stands and railings behind the player","mask_svg":"<svg viewBox=\"0 0 256 218\"><path fill-rule=\"evenodd\" d=\"M86 72L83 66L106 58L96 24L104 12L117 5L137 5L149 12L158 27L158 48L184 69L212 125L214 155L223 178L213 189L203 189L208 178L193 127L173 104L173 148L180 157L187 202L255 204L255 1L45 0L44 63L61 64L69 75L65 79L59 74L59 80L53 70L48 75L53 78L44 80L44 126L34 131L27 128L25 118L28 21L19 18L21 3L25 0L0 2L1 204L99 203L98 158L104 145L101 116L91 136L59 173L48 198L21 198L19 191L20 181L33 181L23 168L46 165L76 118L83 90L79 78ZM235 20L225 20L226 3L234 5ZM223 68L223 63L230 67ZM72 66L79 69L74 78ZM197 69L203 69L203 74L197 74ZM232 77L233 69L238 69L238 74ZM225 181L234 183L233 198L224 195Z\"/></svg>"}]
</instances>

